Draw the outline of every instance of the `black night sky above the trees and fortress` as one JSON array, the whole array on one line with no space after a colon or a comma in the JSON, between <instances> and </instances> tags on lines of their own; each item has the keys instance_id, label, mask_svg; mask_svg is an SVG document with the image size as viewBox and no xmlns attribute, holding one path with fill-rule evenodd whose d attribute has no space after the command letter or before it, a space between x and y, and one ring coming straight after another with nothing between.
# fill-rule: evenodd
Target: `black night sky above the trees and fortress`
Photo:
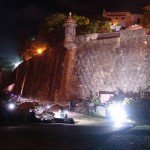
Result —
<instances>
[{"instance_id":1,"label":"black night sky above the trees and fortress","mask_svg":"<svg viewBox=\"0 0 150 150\"><path fill-rule=\"evenodd\" d=\"M17 59L21 34L33 36L42 20L54 12L98 15L102 10L140 12L150 0L0 0L0 56Z\"/></svg>"}]
</instances>

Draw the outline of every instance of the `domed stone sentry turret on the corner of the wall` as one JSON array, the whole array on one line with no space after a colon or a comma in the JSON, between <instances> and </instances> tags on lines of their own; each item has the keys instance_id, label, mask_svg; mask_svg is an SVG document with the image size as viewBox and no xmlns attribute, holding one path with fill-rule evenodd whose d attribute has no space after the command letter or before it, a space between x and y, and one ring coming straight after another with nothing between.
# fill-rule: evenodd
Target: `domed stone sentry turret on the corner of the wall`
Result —
<instances>
[{"instance_id":1,"label":"domed stone sentry turret on the corner of the wall","mask_svg":"<svg viewBox=\"0 0 150 150\"><path fill-rule=\"evenodd\" d=\"M64 40L64 46L69 49L75 49L76 48L76 21L72 18L71 13L69 13L69 16L64 23L65 27L65 40Z\"/></svg>"}]
</instances>

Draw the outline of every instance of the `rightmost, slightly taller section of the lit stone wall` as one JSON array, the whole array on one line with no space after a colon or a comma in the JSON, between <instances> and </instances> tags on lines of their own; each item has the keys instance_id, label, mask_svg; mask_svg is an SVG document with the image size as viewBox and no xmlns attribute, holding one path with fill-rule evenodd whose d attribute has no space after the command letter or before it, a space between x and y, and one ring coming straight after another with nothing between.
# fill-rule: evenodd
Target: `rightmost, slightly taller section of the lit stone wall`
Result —
<instances>
[{"instance_id":1,"label":"rightmost, slightly taller section of the lit stone wall","mask_svg":"<svg viewBox=\"0 0 150 150\"><path fill-rule=\"evenodd\" d=\"M138 92L149 87L150 45L145 30L125 30L120 34L120 61L117 86Z\"/></svg>"}]
</instances>

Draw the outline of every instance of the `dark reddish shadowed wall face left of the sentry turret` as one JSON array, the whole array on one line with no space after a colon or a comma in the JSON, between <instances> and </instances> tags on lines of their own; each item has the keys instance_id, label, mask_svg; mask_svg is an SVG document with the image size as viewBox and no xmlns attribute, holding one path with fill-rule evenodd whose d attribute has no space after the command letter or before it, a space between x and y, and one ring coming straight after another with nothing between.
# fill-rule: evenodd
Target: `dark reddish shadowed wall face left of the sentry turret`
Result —
<instances>
[{"instance_id":1,"label":"dark reddish shadowed wall face left of the sentry turret","mask_svg":"<svg viewBox=\"0 0 150 150\"><path fill-rule=\"evenodd\" d=\"M68 50L59 46L22 63L16 69L15 93L40 100L64 100L68 59Z\"/></svg>"}]
</instances>

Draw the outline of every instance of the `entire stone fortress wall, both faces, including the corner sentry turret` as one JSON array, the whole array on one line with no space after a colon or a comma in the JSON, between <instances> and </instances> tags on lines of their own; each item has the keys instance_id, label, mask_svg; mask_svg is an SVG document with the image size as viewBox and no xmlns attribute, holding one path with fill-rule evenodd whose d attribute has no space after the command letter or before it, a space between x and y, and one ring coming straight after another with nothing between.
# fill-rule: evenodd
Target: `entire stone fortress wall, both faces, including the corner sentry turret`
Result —
<instances>
[{"instance_id":1,"label":"entire stone fortress wall, both faces, including the corner sentry turret","mask_svg":"<svg viewBox=\"0 0 150 150\"><path fill-rule=\"evenodd\" d=\"M150 35L144 29L76 36L71 15L64 45L23 62L14 92L48 101L86 99L99 91L138 92L150 87Z\"/></svg>"}]
</instances>

